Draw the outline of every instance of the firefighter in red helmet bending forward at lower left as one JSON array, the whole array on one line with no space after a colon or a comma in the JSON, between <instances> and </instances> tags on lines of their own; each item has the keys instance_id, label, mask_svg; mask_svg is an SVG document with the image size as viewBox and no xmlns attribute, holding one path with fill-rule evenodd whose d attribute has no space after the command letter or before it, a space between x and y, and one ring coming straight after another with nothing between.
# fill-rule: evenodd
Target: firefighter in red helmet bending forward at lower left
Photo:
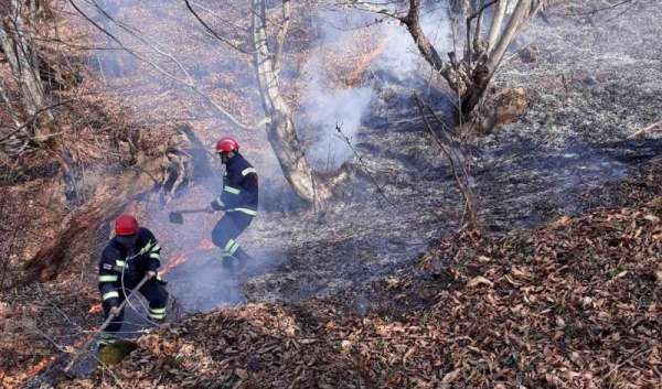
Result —
<instances>
[{"instance_id":1,"label":"firefighter in red helmet bending forward at lower left","mask_svg":"<svg viewBox=\"0 0 662 389\"><path fill-rule=\"evenodd\" d=\"M102 333L99 346L114 343L121 327L124 310L121 302L134 288L147 277L139 292L149 301L150 320L160 323L166 318L168 291L159 277L161 247L153 234L138 226L131 215L121 215L115 220L115 238L102 253L99 262L99 292L104 306L104 318L115 318Z\"/></svg>"}]
</instances>

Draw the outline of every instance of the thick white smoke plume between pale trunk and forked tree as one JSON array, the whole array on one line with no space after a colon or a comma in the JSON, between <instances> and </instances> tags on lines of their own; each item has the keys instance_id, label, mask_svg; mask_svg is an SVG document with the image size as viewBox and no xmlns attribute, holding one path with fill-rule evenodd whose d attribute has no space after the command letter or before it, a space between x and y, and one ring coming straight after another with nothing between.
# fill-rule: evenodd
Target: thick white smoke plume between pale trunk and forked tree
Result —
<instances>
[{"instance_id":1,"label":"thick white smoke plume between pale trunk and forked tree","mask_svg":"<svg viewBox=\"0 0 662 389\"><path fill-rule=\"evenodd\" d=\"M451 46L445 12L435 9L421 17L421 28L440 53ZM431 68L406 29L389 21L374 24L374 14L356 10L317 13L319 48L303 66L307 87L297 126L309 143L307 155L318 170L333 171L353 154L337 136L337 125L355 139L362 120L380 105L388 104L384 94L409 99L414 90L430 85ZM352 66L348 68L343 61ZM363 62L364 69L353 67ZM346 85L339 82L338 68L362 73L354 85Z\"/></svg>"}]
</instances>

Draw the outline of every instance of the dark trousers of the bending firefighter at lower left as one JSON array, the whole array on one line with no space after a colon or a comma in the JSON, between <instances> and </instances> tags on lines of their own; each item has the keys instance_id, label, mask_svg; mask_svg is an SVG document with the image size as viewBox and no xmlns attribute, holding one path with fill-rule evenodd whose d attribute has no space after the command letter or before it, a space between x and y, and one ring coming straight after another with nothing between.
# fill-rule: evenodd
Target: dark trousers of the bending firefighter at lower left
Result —
<instances>
[{"instance_id":1,"label":"dark trousers of the bending firefighter at lower left","mask_svg":"<svg viewBox=\"0 0 662 389\"><path fill-rule=\"evenodd\" d=\"M136 287L137 282L132 284L125 284L125 289L127 294L131 292L131 290ZM126 299L122 290L117 291L119 293L119 304ZM168 303L168 291L166 287L161 283L161 281L152 279L147 281L142 288L139 290L140 294L149 301L149 317L151 320L161 321L166 318L166 304ZM110 313L111 305L107 302L104 302L104 321L108 318ZM110 324L104 331L105 334L102 334L102 342L104 343L104 338L113 339L115 334L119 332L121 327L121 322L124 321L124 310L117 315Z\"/></svg>"}]
</instances>

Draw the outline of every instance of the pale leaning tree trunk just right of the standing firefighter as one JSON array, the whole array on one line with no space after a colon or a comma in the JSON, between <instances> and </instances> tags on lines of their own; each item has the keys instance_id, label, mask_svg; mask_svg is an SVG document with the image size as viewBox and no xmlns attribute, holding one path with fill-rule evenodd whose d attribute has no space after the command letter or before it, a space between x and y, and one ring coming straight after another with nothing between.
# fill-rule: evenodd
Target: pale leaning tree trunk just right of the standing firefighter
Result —
<instances>
[{"instance_id":1,"label":"pale leaning tree trunk just right of the standing firefighter","mask_svg":"<svg viewBox=\"0 0 662 389\"><path fill-rule=\"evenodd\" d=\"M267 137L292 190L305 201L319 201L316 193L314 173L306 159L297 137L292 112L280 94L278 75L269 52L266 32L264 0L252 0L254 66L267 123ZM285 35L282 35L282 39Z\"/></svg>"}]
</instances>

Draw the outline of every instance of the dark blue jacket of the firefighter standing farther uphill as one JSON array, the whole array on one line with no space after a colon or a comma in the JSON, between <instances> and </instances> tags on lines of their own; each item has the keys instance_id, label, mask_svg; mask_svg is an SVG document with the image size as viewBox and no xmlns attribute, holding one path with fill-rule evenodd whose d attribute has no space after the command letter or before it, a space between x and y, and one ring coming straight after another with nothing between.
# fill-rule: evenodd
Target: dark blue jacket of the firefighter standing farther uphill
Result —
<instances>
[{"instance_id":1,"label":"dark blue jacket of the firefighter standing farther uphill","mask_svg":"<svg viewBox=\"0 0 662 389\"><path fill-rule=\"evenodd\" d=\"M241 212L257 215L257 172L236 152L227 161L223 177L223 193L212 203L216 210Z\"/></svg>"}]
</instances>

